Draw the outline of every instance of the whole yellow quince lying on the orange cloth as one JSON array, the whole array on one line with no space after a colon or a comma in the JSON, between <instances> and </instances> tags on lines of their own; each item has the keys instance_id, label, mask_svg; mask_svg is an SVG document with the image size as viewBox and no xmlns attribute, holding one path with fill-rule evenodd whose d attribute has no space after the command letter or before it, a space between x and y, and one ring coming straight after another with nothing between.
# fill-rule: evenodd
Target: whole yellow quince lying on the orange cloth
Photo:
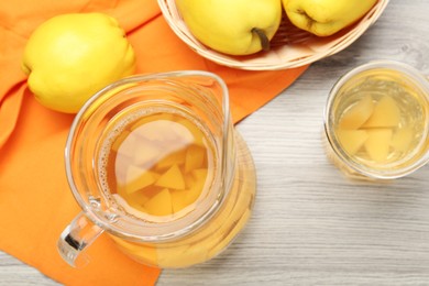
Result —
<instances>
[{"instance_id":1,"label":"whole yellow quince lying on the orange cloth","mask_svg":"<svg viewBox=\"0 0 429 286\"><path fill-rule=\"evenodd\" d=\"M118 21L105 13L59 14L30 36L22 69L45 107L76 113L98 90L135 69L135 55Z\"/></svg>"}]
</instances>

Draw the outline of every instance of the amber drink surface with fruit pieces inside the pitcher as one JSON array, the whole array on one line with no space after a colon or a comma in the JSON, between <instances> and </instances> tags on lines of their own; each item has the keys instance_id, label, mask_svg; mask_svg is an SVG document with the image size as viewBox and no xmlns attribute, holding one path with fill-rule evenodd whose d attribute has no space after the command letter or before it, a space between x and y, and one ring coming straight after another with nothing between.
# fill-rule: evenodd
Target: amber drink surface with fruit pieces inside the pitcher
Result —
<instances>
[{"instance_id":1,"label":"amber drink surface with fruit pieces inside the pitcher","mask_svg":"<svg viewBox=\"0 0 429 286\"><path fill-rule=\"evenodd\" d=\"M154 113L112 142L109 188L138 211L172 216L201 195L212 154L205 133L180 114Z\"/></svg>"}]
</instances>

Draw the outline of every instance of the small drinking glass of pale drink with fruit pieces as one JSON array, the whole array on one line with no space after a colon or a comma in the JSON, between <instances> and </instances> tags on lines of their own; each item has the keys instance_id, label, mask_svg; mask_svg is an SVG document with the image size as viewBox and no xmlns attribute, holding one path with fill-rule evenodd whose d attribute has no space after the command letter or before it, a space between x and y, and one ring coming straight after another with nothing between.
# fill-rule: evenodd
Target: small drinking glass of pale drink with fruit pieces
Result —
<instances>
[{"instance_id":1,"label":"small drinking glass of pale drink with fruit pieces","mask_svg":"<svg viewBox=\"0 0 429 286\"><path fill-rule=\"evenodd\" d=\"M324 113L328 156L350 177L393 179L429 161L429 82L392 61L343 76Z\"/></svg>"}]
</instances>

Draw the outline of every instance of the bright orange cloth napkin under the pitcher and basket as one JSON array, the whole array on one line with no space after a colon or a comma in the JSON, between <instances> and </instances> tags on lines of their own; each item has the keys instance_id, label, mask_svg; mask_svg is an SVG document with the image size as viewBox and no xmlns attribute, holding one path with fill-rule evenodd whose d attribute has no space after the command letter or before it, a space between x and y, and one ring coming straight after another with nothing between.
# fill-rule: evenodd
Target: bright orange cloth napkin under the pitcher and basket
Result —
<instances>
[{"instance_id":1,"label":"bright orange cloth napkin under the pitcher and basket","mask_svg":"<svg viewBox=\"0 0 429 286\"><path fill-rule=\"evenodd\" d=\"M65 176L64 146L74 119L38 105L20 69L26 40L48 18L99 11L117 18L135 48L138 72L209 70L221 76L234 122L288 87L305 69L244 72L213 64L167 26L156 0L14 0L0 6L0 250L66 285L153 285L161 270L121 254L107 235L80 270L57 254L56 241L79 212ZM77 82L78 84L78 82ZM1 279L1 277L0 277Z\"/></svg>"}]
</instances>

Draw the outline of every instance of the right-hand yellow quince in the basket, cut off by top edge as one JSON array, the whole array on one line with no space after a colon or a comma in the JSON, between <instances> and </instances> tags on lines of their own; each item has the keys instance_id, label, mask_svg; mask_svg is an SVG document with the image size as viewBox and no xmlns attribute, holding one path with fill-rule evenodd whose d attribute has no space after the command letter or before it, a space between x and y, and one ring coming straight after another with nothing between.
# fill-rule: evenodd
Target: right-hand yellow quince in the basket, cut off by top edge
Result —
<instances>
[{"instance_id":1,"label":"right-hand yellow quince in the basket, cut off by top edge","mask_svg":"<svg viewBox=\"0 0 429 286\"><path fill-rule=\"evenodd\" d=\"M329 36L361 19L377 0L282 0L290 22L318 36Z\"/></svg>"}]
</instances>

